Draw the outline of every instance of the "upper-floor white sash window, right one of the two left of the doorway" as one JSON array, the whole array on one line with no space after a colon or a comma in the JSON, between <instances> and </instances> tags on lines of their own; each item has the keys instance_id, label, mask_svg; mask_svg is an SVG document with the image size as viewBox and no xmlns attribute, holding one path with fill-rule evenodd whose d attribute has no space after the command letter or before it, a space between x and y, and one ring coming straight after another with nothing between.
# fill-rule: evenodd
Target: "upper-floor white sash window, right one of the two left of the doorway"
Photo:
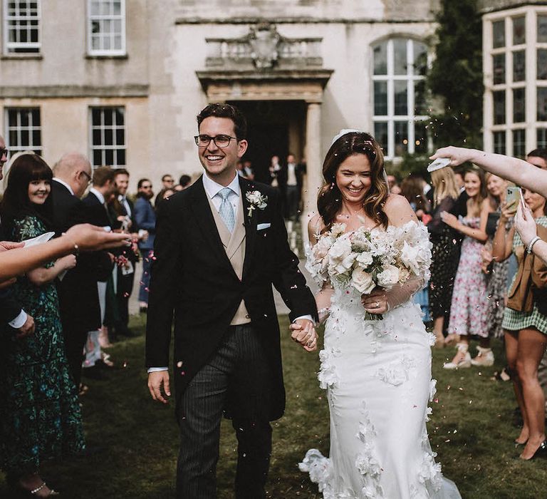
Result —
<instances>
[{"instance_id":1,"label":"upper-floor white sash window, right one of the two left of the doorway","mask_svg":"<svg viewBox=\"0 0 547 499\"><path fill-rule=\"evenodd\" d=\"M125 54L125 0L88 0L88 53Z\"/></svg>"}]
</instances>

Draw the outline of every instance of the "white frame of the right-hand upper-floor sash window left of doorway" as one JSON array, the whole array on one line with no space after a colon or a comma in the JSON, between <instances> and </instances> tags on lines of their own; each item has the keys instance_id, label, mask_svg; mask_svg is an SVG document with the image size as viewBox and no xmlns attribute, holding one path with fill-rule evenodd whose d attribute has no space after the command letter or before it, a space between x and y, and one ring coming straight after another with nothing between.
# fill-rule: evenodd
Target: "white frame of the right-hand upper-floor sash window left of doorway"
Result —
<instances>
[{"instance_id":1,"label":"white frame of the right-hand upper-floor sash window left of doorway","mask_svg":"<svg viewBox=\"0 0 547 499\"><path fill-rule=\"evenodd\" d=\"M120 3L120 14L114 14L115 2ZM110 5L109 14L93 14L93 4ZM87 1L87 31L88 31L88 56L125 56L127 54L126 49L126 33L125 33L125 0L88 0ZM119 21L120 31L115 31L113 25ZM101 36L98 36L100 48L93 48L93 38L95 34L93 32L93 24L99 23L99 26L104 26L106 23L110 23L110 31L98 31L98 34L102 34L103 37L107 37L110 40L111 48L104 48ZM120 48L112 48L115 42L115 37L120 36L121 46Z\"/></svg>"}]
</instances>

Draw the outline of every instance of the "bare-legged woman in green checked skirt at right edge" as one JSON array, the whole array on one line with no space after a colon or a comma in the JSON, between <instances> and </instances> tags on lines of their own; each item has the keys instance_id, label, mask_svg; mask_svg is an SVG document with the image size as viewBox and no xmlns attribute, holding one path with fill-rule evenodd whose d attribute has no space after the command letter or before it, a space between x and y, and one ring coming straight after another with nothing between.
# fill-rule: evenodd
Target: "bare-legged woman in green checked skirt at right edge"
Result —
<instances>
[{"instance_id":1,"label":"bare-legged woman in green checked skirt at right edge","mask_svg":"<svg viewBox=\"0 0 547 499\"><path fill-rule=\"evenodd\" d=\"M524 202L532 211L536 223L547 227L545 197L526 189L522 192ZM506 230L506 222L516 207L509 208L511 210L508 207L502 209L492 256L500 262L514 252L520 263L526 248L514 227ZM521 459L547 456L545 396L538 381L538 365L547 345L547 316L540 312L535 300L531 312L518 312L505 307L502 327L505 331L507 363L513 374L516 399L523 416L521 433L515 443L524 446Z\"/></svg>"}]
</instances>

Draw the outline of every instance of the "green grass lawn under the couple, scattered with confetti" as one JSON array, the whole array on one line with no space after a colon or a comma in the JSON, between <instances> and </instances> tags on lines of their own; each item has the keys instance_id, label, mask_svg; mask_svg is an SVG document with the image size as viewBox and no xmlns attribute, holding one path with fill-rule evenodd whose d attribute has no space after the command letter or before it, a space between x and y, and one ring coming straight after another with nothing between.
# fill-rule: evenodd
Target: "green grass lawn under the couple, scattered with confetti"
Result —
<instances>
[{"instance_id":1,"label":"green grass lawn under the couple, scattered with confetti","mask_svg":"<svg viewBox=\"0 0 547 499\"><path fill-rule=\"evenodd\" d=\"M288 319L280 321L286 331ZM133 317L132 327L142 331L142 318ZM504 364L501 349L496 342L494 367L456 372L442 369L453 349L433 351L438 399L429 422L432 447L463 498L544 498L546 461L518 459L512 444L518 432L512 425L516 402L511 384L491 379ZM63 498L174 498L177 425L172 404L155 403L148 394L143 351L143 336L115 344L110 353L117 368L110 379L88 382L83 415L88 446L95 452L43 466L44 478ZM308 448L328 454L328 408L316 380L318 356L306 354L287 333L283 362L287 410L273 423L269 497L318 499L316 485L297 466ZM229 421L222 429L219 498L228 499L233 497L236 441ZM9 497L0 474L0 498Z\"/></svg>"}]
</instances>

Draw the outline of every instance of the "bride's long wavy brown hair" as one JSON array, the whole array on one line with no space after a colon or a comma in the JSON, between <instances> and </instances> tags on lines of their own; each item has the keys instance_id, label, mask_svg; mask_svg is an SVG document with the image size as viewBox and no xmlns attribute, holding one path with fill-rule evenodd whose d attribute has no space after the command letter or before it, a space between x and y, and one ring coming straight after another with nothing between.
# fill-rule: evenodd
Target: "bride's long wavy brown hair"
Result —
<instances>
[{"instance_id":1,"label":"bride's long wavy brown hair","mask_svg":"<svg viewBox=\"0 0 547 499\"><path fill-rule=\"evenodd\" d=\"M346 158L354 154L364 154L370 163L370 187L363 199L363 210L376 225L387 228L388 219L383 206L389 189L384 177L382 148L372 135L365 132L350 132L335 140L323 162L325 185L319 190L317 198L318 212L325 224L322 232L330 230L342 208L342 193L336 185L338 168Z\"/></svg>"}]
</instances>

